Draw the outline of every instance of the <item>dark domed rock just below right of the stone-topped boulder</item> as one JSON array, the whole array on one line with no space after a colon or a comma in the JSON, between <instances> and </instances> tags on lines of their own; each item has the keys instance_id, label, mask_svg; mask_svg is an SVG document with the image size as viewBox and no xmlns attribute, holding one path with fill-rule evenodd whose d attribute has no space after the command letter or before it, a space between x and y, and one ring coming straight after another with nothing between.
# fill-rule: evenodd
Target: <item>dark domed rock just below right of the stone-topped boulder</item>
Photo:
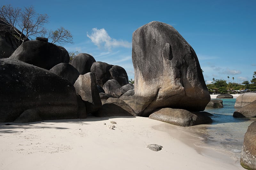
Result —
<instances>
[{"instance_id":1,"label":"dark domed rock just below right of the stone-topped boulder","mask_svg":"<svg viewBox=\"0 0 256 170\"><path fill-rule=\"evenodd\" d=\"M77 78L80 75L76 68L68 63L57 64L52 67L50 71L63 78L66 78L72 85L75 84Z\"/></svg>"}]
</instances>

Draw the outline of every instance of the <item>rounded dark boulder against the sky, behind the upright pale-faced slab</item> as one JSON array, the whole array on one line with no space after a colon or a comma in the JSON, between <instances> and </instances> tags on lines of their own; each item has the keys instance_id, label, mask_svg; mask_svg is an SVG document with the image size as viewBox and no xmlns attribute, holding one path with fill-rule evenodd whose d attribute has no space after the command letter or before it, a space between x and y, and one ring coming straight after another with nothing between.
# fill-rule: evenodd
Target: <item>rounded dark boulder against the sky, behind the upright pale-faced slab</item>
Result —
<instances>
[{"instance_id":1,"label":"rounded dark boulder against the sky, behind the upright pale-faced slab","mask_svg":"<svg viewBox=\"0 0 256 170\"><path fill-rule=\"evenodd\" d=\"M80 53L76 55L69 64L74 66L80 74L91 72L92 64L96 62L92 55Z\"/></svg>"}]
</instances>

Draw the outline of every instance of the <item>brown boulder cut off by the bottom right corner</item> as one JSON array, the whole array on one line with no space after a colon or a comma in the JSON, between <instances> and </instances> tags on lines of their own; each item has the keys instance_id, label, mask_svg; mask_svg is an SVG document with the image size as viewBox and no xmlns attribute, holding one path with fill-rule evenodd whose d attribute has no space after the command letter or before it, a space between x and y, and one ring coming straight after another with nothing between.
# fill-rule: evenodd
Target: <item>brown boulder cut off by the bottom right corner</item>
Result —
<instances>
[{"instance_id":1,"label":"brown boulder cut off by the bottom right corner","mask_svg":"<svg viewBox=\"0 0 256 170\"><path fill-rule=\"evenodd\" d=\"M244 135L240 164L245 169L256 169L256 121L252 122Z\"/></svg>"}]
</instances>

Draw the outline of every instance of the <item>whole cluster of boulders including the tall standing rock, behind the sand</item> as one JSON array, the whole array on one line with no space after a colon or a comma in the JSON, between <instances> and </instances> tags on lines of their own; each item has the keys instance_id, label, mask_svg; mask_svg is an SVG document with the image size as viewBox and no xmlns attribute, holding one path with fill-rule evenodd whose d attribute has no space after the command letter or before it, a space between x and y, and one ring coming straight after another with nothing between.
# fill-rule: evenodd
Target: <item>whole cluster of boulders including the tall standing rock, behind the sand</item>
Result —
<instances>
[{"instance_id":1,"label":"whole cluster of boulders including the tall standing rock, behind the sand","mask_svg":"<svg viewBox=\"0 0 256 170\"><path fill-rule=\"evenodd\" d=\"M0 122L145 116L179 126L212 122L210 95L194 49L170 25L132 35L134 85L124 68L37 38L0 59Z\"/></svg>"}]
</instances>

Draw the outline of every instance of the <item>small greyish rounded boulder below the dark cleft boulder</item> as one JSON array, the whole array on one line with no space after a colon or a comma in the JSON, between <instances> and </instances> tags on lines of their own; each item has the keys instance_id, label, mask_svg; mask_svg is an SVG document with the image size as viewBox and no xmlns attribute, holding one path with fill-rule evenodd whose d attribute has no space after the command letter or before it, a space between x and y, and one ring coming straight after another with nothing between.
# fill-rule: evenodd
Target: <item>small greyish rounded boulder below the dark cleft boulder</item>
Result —
<instances>
[{"instance_id":1,"label":"small greyish rounded boulder below the dark cleft boulder","mask_svg":"<svg viewBox=\"0 0 256 170\"><path fill-rule=\"evenodd\" d=\"M121 85L116 80L108 80L103 85L103 90L106 94L110 94L115 98L119 98L122 95L122 92L120 90Z\"/></svg>"}]
</instances>

